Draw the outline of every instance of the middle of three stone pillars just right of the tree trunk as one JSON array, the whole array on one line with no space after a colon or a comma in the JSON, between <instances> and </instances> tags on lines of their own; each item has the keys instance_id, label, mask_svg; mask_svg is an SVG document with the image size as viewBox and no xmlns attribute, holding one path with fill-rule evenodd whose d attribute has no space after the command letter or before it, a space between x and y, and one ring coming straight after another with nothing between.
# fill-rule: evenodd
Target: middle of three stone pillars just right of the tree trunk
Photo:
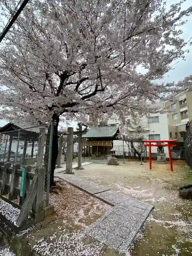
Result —
<instances>
[{"instance_id":1,"label":"middle of three stone pillars just right of the tree trunk","mask_svg":"<svg viewBox=\"0 0 192 256\"><path fill-rule=\"evenodd\" d=\"M74 174L73 169L73 127L68 127L66 174Z\"/></svg>"}]
</instances>

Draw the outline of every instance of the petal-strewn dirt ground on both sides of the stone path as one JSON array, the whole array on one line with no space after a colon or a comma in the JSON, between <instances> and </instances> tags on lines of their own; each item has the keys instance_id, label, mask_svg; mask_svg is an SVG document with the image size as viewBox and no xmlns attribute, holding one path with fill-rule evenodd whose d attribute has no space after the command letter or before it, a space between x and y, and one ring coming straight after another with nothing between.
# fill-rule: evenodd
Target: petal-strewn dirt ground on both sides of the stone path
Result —
<instances>
[{"instance_id":1,"label":"petal-strewn dirt ground on both sides of the stone path","mask_svg":"<svg viewBox=\"0 0 192 256\"><path fill-rule=\"evenodd\" d=\"M192 201L180 199L178 188L192 184L192 173L181 160L174 161L174 173L170 172L169 163L154 161L152 170L148 165L125 160L119 166L89 164L74 172L83 179L155 206L126 256L191 255ZM57 194L50 195L54 216L24 231L33 250L52 256L120 256L82 232L111 206L60 179L55 180ZM14 255L11 253L5 249L0 255Z\"/></svg>"}]
</instances>

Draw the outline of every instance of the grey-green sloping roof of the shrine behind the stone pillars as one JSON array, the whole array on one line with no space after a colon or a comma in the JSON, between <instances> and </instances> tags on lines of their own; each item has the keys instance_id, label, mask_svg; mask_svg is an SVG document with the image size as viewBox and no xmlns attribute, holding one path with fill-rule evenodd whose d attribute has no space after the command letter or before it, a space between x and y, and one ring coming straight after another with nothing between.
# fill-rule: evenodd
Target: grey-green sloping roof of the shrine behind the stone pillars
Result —
<instances>
[{"instance_id":1,"label":"grey-green sloping roof of the shrine behind the stone pillars","mask_svg":"<svg viewBox=\"0 0 192 256\"><path fill-rule=\"evenodd\" d=\"M83 138L106 138L106 137L114 137L119 131L117 126L95 126L90 127L87 134L83 134Z\"/></svg>"}]
</instances>

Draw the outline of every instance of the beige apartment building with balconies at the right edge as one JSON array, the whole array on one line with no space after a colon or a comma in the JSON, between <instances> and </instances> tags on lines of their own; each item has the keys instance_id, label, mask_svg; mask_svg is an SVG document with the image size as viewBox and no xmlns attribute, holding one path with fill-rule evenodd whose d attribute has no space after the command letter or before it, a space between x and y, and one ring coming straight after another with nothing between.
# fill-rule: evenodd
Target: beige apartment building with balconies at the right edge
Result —
<instances>
[{"instance_id":1,"label":"beige apartment building with balconies at the right edge","mask_svg":"<svg viewBox=\"0 0 192 256\"><path fill-rule=\"evenodd\" d=\"M175 102L167 104L169 139L183 142L186 124L192 119L192 92L178 93L175 95Z\"/></svg>"}]
</instances>

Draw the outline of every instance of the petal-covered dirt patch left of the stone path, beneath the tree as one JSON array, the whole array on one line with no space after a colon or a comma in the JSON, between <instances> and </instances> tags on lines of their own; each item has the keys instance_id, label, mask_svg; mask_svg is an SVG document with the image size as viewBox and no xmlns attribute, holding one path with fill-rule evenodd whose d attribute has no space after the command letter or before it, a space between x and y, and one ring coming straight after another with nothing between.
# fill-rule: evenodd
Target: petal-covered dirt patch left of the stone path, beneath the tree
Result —
<instances>
[{"instance_id":1,"label":"petal-covered dirt patch left of the stone path, beneath the tree","mask_svg":"<svg viewBox=\"0 0 192 256\"><path fill-rule=\"evenodd\" d=\"M24 231L32 249L42 256L119 256L82 232L111 206L58 178L55 181L57 193L50 194L55 214L37 229Z\"/></svg>"}]
</instances>

